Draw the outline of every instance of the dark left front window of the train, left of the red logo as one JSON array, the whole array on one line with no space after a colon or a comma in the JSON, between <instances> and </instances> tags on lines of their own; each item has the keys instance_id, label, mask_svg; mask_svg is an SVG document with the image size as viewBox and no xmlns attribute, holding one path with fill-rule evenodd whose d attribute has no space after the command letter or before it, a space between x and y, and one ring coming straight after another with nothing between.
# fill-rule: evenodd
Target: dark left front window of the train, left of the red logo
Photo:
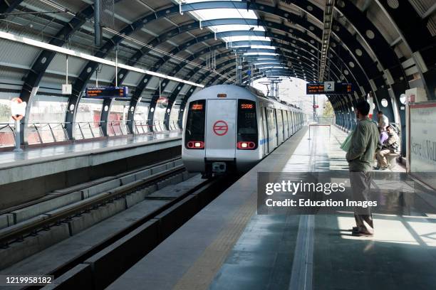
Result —
<instances>
[{"instance_id":1,"label":"dark left front window of the train, left of the red logo","mask_svg":"<svg viewBox=\"0 0 436 290\"><path fill-rule=\"evenodd\" d=\"M204 148L204 127L206 117L206 101L198 100L190 103L190 108L187 115L186 129L185 129L185 146L190 149L194 142L203 144Z\"/></svg>"}]
</instances>

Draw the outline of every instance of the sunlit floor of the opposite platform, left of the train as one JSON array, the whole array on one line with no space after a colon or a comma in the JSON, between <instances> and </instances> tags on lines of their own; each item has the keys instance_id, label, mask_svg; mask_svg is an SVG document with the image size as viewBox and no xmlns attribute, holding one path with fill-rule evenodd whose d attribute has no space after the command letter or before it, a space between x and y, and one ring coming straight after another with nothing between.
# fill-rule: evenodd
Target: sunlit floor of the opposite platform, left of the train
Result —
<instances>
[{"instance_id":1,"label":"sunlit floor of the opposite platform, left of the train","mask_svg":"<svg viewBox=\"0 0 436 290\"><path fill-rule=\"evenodd\" d=\"M126 146L135 143L161 140L171 137L182 137L180 131L162 132L156 134L116 136L98 141L80 141L74 144L43 146L38 148L27 148L21 152L3 151L0 152L0 168L16 163L17 161L34 161L46 157L61 157L67 154L85 153L99 149L110 149L119 146Z\"/></svg>"}]
</instances>

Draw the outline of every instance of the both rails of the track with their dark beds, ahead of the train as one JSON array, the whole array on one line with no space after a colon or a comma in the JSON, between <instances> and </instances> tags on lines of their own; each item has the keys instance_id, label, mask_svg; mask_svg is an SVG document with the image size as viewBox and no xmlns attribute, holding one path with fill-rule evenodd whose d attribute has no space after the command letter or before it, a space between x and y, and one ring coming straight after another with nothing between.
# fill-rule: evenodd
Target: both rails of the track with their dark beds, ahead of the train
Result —
<instances>
[{"instance_id":1,"label":"both rails of the track with their dark beds, ahead of the train","mask_svg":"<svg viewBox=\"0 0 436 290\"><path fill-rule=\"evenodd\" d=\"M129 171L124 175L116 176L116 178L123 178L123 176L128 176L135 172L140 172L144 170L150 170L150 172L152 172L153 168L157 168L158 166L162 167L168 162L174 162L174 164L177 164L177 161L179 160L180 158L169 159L157 164L153 164L152 166L141 168L138 171ZM30 220L31 222L23 222L22 224L6 227L0 230L0 245L2 245L3 248L7 248L9 247L9 245L14 245L14 243L19 244L20 242L23 242L26 238L36 237L38 236L38 233L50 230L51 227L70 222L73 218L81 217L81 215L86 215L87 213L90 213L91 210L98 210L99 208L105 210L105 205L114 203L116 200L122 200L128 195L136 193L138 190L150 188L150 186L157 187L156 185L158 183L162 183L163 180L169 180L185 173L186 171L184 166L179 164L167 170L151 174L150 176L142 178L138 181L133 181L123 186L118 186L113 190L109 190L108 193L98 194L86 200L81 200L81 203L68 205L59 210L55 210L54 213L47 215L47 217L43 220L35 220L34 222ZM165 205L162 205L160 208L152 211L152 213L148 213L140 220L137 220L130 225L124 227L123 229L118 230L118 232L111 233L110 238L104 240L103 242L95 243L95 245L93 245L93 247L91 247L90 249L84 250L83 252L81 252L81 254L77 254L75 257L73 257L73 259L68 259L68 262L58 265L56 268L53 268L49 272L41 272L38 274L53 275L55 279L61 277L61 281L63 282L61 282L58 286L54 286L54 284L52 284L51 286L48 286L48 289L50 289L50 287L53 288L53 286L56 289L64 289L65 287L63 287L62 285L65 285L65 283L66 285L68 285L65 289L68 289L70 287L80 288L83 285L78 285L76 279L71 280L64 279L62 277L66 274L68 276L68 273L71 271L74 272L78 265L87 264L89 263L89 259L93 259L93 257L101 255L101 252L105 252L105 259L113 259L113 264L116 265L115 268L118 270L111 273L110 275L101 274L102 272L99 272L98 270L93 272L92 279L94 286L91 288L103 289L105 286L108 286L111 281L115 280L118 276L120 276L120 274L123 274L125 270L132 267L135 262L144 257L145 254L150 252L155 246L159 245L162 240L165 240L168 235L177 230L178 227L183 225L183 223L189 220L195 213L204 208L204 206L207 205L211 200L216 198L217 195L219 195L219 193L221 193L225 188L230 186L236 180L236 178L237 177L219 177L212 178L206 181L199 180L199 182L195 183L192 188L189 188L189 190L185 190L185 193L177 196L177 198L169 200L169 202ZM165 190L165 187L163 187L162 189ZM68 191L66 193L63 193L61 196L68 195L69 193L70 192ZM24 205L19 205L14 208L9 208L8 210L4 210L2 213L11 213L14 210L21 210L27 208L28 206L37 205L38 203L46 202L47 200L51 199L53 199L53 197L43 198L41 200L26 203ZM147 199L152 200L153 198L150 197ZM125 210L128 210L128 208L126 208ZM149 237L147 235L147 240L150 238L151 240L153 240L153 242L145 243L145 247L129 247L129 249L125 249L125 251L133 251L130 254L123 252L123 256L127 255L128 257L131 257L131 259L123 259L123 263L118 262L117 257L120 253L116 250L115 252L112 250L108 250L108 248L113 247L113 245L117 245L117 243L120 243L120 240L125 240L126 237L130 237L130 235L133 235L134 232L137 232L138 230L144 230L142 228L146 227L150 223L155 226L155 223L153 222L155 222L156 220L159 220L159 235L154 237ZM98 225L98 223L96 223L95 225ZM131 238L128 238L128 240L130 240L130 243L137 239L138 237L135 235L133 235ZM66 242L68 242L68 240L69 238L66 240ZM33 258L33 256L31 256L29 259L31 258ZM24 261L27 260L28 259ZM93 269L98 269L98 267L93 265ZM110 277L110 279L108 279L108 277ZM83 281L83 279L81 281ZM28 288L38 289L41 288L41 286L29 286ZM86 286L86 288L89 288L89 285Z\"/></svg>"}]
</instances>

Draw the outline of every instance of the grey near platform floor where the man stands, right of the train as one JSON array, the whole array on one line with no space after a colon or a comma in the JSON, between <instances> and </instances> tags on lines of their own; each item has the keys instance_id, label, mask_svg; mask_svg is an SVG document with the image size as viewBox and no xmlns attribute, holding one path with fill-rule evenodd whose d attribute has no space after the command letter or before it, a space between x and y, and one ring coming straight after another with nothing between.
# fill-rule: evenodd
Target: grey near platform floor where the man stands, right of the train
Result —
<instances>
[{"instance_id":1,"label":"grey near platform floor where the man stands, right of the train","mask_svg":"<svg viewBox=\"0 0 436 290\"><path fill-rule=\"evenodd\" d=\"M375 235L354 237L352 213L256 214L257 172L348 170L339 148L346 134L311 130L312 139L307 127L297 132L108 289L435 289L435 215L374 215Z\"/></svg>"}]
</instances>

